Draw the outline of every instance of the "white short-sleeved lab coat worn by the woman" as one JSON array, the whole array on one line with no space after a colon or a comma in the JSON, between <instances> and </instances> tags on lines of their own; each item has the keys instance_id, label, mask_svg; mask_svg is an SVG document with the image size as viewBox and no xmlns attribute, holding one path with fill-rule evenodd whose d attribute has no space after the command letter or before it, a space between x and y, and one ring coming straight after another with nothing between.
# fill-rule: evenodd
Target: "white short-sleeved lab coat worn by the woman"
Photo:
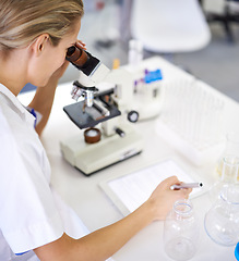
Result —
<instances>
[{"instance_id":1,"label":"white short-sleeved lab coat worn by the woman","mask_svg":"<svg viewBox=\"0 0 239 261\"><path fill-rule=\"evenodd\" d=\"M49 185L50 165L34 121L0 84L0 260L38 260L32 249L64 232L74 238L87 233Z\"/></svg>"}]
</instances>

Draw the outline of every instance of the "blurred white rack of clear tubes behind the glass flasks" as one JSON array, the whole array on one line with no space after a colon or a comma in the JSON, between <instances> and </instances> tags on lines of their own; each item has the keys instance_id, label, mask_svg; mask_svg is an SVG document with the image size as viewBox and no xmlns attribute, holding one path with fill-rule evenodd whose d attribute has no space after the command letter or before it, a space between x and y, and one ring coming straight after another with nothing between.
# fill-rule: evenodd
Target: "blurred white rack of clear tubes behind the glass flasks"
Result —
<instances>
[{"instance_id":1,"label":"blurred white rack of clear tubes behind the glass flasks","mask_svg":"<svg viewBox=\"0 0 239 261\"><path fill-rule=\"evenodd\" d=\"M156 132L195 165L218 160L224 148L225 101L191 75L164 84Z\"/></svg>"}]
</instances>

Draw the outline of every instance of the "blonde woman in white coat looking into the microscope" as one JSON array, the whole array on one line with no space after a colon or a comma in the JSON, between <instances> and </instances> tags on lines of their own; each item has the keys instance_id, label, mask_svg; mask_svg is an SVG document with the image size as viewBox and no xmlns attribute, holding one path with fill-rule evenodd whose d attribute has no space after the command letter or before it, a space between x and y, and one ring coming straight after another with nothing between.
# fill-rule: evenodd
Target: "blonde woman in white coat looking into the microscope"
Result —
<instances>
[{"instance_id":1,"label":"blonde woman in white coat looking into the microscope","mask_svg":"<svg viewBox=\"0 0 239 261\"><path fill-rule=\"evenodd\" d=\"M31 252L46 261L105 260L191 191L172 191L179 181L170 177L121 221L79 239L67 235L38 135L68 65L68 48L84 48L77 41L82 15L82 0L0 1L0 260L29 260ZM27 83L39 86L29 103L43 115L36 130L34 116L17 100Z\"/></svg>"}]
</instances>

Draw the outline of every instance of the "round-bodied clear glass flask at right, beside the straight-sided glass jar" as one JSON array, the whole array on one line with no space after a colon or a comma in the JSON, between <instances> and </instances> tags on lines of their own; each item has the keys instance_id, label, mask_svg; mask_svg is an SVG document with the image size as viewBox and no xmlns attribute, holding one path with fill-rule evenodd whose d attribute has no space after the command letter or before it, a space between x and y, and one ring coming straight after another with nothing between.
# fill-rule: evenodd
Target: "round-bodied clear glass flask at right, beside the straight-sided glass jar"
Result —
<instances>
[{"instance_id":1,"label":"round-bodied clear glass flask at right, beside the straight-sided glass jar","mask_svg":"<svg viewBox=\"0 0 239 261\"><path fill-rule=\"evenodd\" d=\"M234 246L239 240L239 186L227 184L204 219L207 235L217 244Z\"/></svg>"}]
</instances>

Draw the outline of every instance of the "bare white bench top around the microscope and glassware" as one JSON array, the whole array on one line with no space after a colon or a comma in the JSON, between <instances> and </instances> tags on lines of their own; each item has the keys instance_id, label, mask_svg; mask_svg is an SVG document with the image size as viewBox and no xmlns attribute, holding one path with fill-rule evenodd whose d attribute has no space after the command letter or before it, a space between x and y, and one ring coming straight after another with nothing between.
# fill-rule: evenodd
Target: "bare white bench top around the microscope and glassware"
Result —
<instances>
[{"instance_id":1,"label":"bare white bench top around the microscope and glassware","mask_svg":"<svg viewBox=\"0 0 239 261\"><path fill-rule=\"evenodd\" d=\"M175 77L175 75L182 75L183 77L183 75L187 74L160 58L157 58L157 62L159 62L158 66L167 77ZM131 170L133 171L135 166L141 169L160 159L177 158L177 160L183 162L183 164L187 164L204 179L206 178L208 183L213 184L216 178L215 162L200 167L191 164L156 134L155 128L157 119L135 124L135 128L145 139L145 148L141 154L107 167L92 176L84 176L62 158L59 146L60 140L75 135L83 135L83 130L79 129L62 110L64 105L73 103L70 97L71 86L72 83L67 83L58 87L52 112L46 129L43 133L41 141L51 163L52 186L65 202L74 209L89 231L109 225L123 217L121 212L105 195L98 184L110 177L129 173ZM29 96L31 94L23 94L20 99L26 102ZM226 124L229 129L230 126L235 126L236 124L239 125L239 104L227 97L225 97L225 100L228 110ZM204 215L212 206L208 192L193 198L192 203L201 223L199 249L192 260L236 260L234 247L222 247L216 245L210 239L204 231ZM171 260L166 256L163 248L163 222L154 222L127 243L127 245L113 254L112 258L116 261ZM115 235L112 235L112 238L113 236Z\"/></svg>"}]
</instances>

